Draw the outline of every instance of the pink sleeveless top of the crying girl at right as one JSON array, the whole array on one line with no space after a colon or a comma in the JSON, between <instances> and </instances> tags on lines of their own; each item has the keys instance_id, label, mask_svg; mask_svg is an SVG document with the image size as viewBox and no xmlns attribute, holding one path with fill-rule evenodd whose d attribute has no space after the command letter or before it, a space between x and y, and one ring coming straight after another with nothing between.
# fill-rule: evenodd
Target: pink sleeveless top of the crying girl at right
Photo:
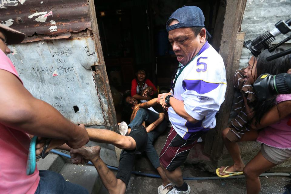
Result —
<instances>
[{"instance_id":1,"label":"pink sleeveless top of the crying girl at right","mask_svg":"<svg viewBox=\"0 0 291 194\"><path fill-rule=\"evenodd\" d=\"M277 103L291 100L291 94L277 96ZM259 132L258 142L279 149L291 150L291 115L281 119L281 122L265 127Z\"/></svg>"}]
</instances>

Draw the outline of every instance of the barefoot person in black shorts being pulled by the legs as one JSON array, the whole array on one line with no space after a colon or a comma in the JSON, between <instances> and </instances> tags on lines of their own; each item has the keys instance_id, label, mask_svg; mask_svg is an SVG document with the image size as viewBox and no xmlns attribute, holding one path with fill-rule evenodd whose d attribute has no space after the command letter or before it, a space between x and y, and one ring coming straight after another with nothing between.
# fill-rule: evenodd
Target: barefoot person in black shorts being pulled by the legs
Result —
<instances>
[{"instance_id":1,"label":"barefoot person in black shorts being pulled by the legs","mask_svg":"<svg viewBox=\"0 0 291 194\"><path fill-rule=\"evenodd\" d=\"M156 125L159 125L162 119L157 119L155 121ZM153 126L152 128L155 128ZM87 129L90 140L100 143L109 143L114 146L123 149L120 154L119 169L117 175L115 176L111 172L102 159L99 156L100 147L83 147L80 150L71 150L67 145L62 145L64 142L58 139L52 139L49 148L46 150L48 152L51 149L59 148L64 150L70 150L71 160L74 164L84 163L85 160L90 160L96 167L98 174L109 193L125 193L126 187L128 186L129 179L132 172L132 167L135 162L135 155L141 154L147 146L147 131L144 123L139 126L134 126L128 135L120 135L116 132L107 129ZM126 134L127 131L124 133ZM62 145L62 146L60 146ZM39 143L37 145L36 154L40 154L43 150L44 143ZM60 146L60 147L59 147ZM89 155L83 155L82 153L87 150ZM82 157L83 156L83 159ZM96 160L95 160L96 159Z\"/></svg>"}]
</instances>

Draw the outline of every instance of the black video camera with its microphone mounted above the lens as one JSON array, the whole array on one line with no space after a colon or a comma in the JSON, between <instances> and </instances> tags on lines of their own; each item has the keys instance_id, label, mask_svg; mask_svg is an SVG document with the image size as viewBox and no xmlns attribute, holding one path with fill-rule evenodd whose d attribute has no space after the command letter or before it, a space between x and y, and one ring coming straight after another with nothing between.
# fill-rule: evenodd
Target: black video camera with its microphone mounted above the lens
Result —
<instances>
[{"instance_id":1,"label":"black video camera with its microphone mounted above the lens","mask_svg":"<svg viewBox=\"0 0 291 194\"><path fill-rule=\"evenodd\" d=\"M248 48L255 57L268 49L269 52L273 52L283 43L291 39L291 35L285 38L283 41L279 42L277 45L270 48L270 44L275 40L275 37L279 34L286 34L291 31L290 28L291 19L286 22L281 20L275 24L275 27L270 32L259 35L253 41L248 40L244 42L246 48ZM291 49L277 53L275 55L266 58L267 61L277 59L279 57L288 55L291 53ZM291 58L290 58L291 60ZM260 100L270 100L273 99L277 94L289 94L291 93L291 74L280 73L278 75L269 75L268 73L260 75L255 83L254 88L257 92L257 96Z\"/></svg>"}]
</instances>

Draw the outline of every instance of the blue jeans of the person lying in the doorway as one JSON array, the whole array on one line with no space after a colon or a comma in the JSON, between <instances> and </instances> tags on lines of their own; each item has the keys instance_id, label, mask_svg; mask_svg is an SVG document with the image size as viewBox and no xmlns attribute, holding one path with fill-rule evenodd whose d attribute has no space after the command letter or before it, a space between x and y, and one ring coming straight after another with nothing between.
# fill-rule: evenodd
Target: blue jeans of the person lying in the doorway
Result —
<instances>
[{"instance_id":1,"label":"blue jeans of the person lying in the doorway","mask_svg":"<svg viewBox=\"0 0 291 194\"><path fill-rule=\"evenodd\" d=\"M159 119L159 114L152 112L148 109L139 108L139 110L136 112L135 118L132 120L132 122L129 123L128 127L132 128L138 125L141 125L143 121L145 121L147 124L151 124L152 122L155 122L157 119ZM157 127L156 129L152 130L148 133L148 141L146 144L146 155L148 156L149 160L152 163L152 166L154 168L158 168L160 166L159 161L159 155L156 151L156 149L153 146L153 142L156 138L159 137L159 135L165 131L167 127L167 122L164 119Z\"/></svg>"}]
</instances>

